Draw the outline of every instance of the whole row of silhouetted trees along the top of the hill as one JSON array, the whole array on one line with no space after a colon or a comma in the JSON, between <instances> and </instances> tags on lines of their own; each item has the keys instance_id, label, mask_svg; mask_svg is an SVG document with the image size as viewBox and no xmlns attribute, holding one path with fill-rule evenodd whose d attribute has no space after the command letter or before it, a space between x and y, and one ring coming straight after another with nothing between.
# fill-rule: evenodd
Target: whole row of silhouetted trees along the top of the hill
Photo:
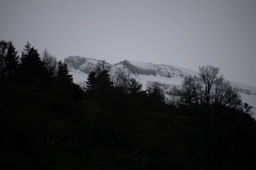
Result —
<instances>
[{"instance_id":1,"label":"whole row of silhouetted trees along the top of the hill","mask_svg":"<svg viewBox=\"0 0 256 170\"><path fill-rule=\"evenodd\" d=\"M50 85L51 87L71 87L80 90L73 83L69 75L67 65L57 61L55 56L44 50L42 55L28 42L22 51L22 56L17 55L12 42L1 40L0 42L0 80L1 83L30 83L38 85ZM157 84L153 84L146 91L142 85L133 79L130 73L117 70L114 77L108 74L108 66L102 61L92 71L86 82L86 95L100 99L102 107L111 105L106 103L109 97L117 99L134 97L138 99L138 108L145 110L162 110L166 105L164 93ZM236 108L241 109L241 96L237 89L232 88L220 74L220 70L211 65L199 68L199 77L187 76L181 85L181 89L175 89L171 93L179 96L176 105L202 105L206 108ZM67 92L67 91L65 91ZM122 96L119 96L122 95ZM104 101L104 99L106 101ZM128 99L132 101L134 99ZM173 102L171 102L173 103ZM132 105L135 105L133 103ZM251 108L245 104L246 112Z\"/></svg>"}]
</instances>

